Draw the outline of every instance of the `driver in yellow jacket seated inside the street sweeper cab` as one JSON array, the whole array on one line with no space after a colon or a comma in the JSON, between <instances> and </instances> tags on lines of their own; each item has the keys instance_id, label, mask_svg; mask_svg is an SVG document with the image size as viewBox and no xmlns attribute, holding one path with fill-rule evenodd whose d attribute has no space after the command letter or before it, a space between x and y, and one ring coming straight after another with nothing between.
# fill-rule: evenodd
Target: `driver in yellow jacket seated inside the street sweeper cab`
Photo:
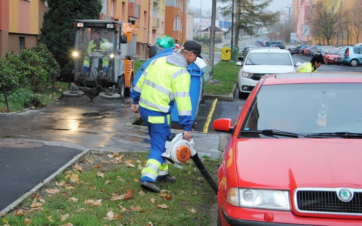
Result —
<instances>
[{"instance_id":1,"label":"driver in yellow jacket seated inside the street sweeper cab","mask_svg":"<svg viewBox=\"0 0 362 226\"><path fill-rule=\"evenodd\" d=\"M108 53L109 47L107 47L106 43L109 43L108 39L102 38L101 32L99 30L93 31L92 40L89 41L88 43L88 49L87 49L88 56L91 56L92 52L100 52L102 54ZM108 56L104 56L102 59L103 75L107 75L108 64L109 64ZM91 59L89 57L85 57L82 70L88 73L90 66L91 66Z\"/></svg>"}]
</instances>

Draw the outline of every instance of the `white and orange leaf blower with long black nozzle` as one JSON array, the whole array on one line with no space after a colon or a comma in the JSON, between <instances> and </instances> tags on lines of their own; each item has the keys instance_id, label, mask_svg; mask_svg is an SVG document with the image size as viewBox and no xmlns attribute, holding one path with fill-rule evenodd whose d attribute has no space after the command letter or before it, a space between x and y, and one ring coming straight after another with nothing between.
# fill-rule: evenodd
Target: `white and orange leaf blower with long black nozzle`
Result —
<instances>
[{"instance_id":1,"label":"white and orange leaf blower with long black nozzle","mask_svg":"<svg viewBox=\"0 0 362 226\"><path fill-rule=\"evenodd\" d=\"M174 164L177 168L182 169L182 164L187 162L190 158L194 161L200 173L204 176L206 182L211 188L218 193L218 186L212 179L209 171L201 162L196 150L194 149L194 140L187 141L183 139L183 134L179 133L166 141L166 151L162 154L170 163Z\"/></svg>"}]
</instances>

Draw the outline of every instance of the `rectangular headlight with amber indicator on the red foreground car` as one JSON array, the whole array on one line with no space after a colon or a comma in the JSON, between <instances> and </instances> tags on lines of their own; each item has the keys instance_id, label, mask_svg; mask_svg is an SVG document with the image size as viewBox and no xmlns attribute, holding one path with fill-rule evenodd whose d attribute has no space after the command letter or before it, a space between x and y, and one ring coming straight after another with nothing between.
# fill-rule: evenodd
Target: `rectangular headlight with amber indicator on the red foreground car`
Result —
<instances>
[{"instance_id":1,"label":"rectangular headlight with amber indicator on the red foreground car","mask_svg":"<svg viewBox=\"0 0 362 226\"><path fill-rule=\"evenodd\" d=\"M230 205L248 208L291 210L289 191L282 190L234 187L227 193L227 202Z\"/></svg>"}]
</instances>

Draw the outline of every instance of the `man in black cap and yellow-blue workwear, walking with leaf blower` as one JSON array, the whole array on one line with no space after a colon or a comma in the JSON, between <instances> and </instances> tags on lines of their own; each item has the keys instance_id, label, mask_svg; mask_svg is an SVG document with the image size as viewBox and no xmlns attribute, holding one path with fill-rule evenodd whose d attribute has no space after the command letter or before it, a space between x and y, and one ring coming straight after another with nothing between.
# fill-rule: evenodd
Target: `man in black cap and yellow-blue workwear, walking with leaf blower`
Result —
<instances>
[{"instance_id":1,"label":"man in black cap and yellow-blue workwear, walking with leaf blower","mask_svg":"<svg viewBox=\"0 0 362 226\"><path fill-rule=\"evenodd\" d=\"M145 190L160 192L155 185L156 181L176 180L168 174L167 160L162 153L171 135L171 110L179 113L183 138L191 140L191 76L186 68L197 57L202 58L200 54L201 45L197 41L186 41L180 51L153 60L131 92L131 110L140 113L151 138L150 154L141 173L140 185ZM173 109L174 102L177 103L177 109Z\"/></svg>"}]
</instances>

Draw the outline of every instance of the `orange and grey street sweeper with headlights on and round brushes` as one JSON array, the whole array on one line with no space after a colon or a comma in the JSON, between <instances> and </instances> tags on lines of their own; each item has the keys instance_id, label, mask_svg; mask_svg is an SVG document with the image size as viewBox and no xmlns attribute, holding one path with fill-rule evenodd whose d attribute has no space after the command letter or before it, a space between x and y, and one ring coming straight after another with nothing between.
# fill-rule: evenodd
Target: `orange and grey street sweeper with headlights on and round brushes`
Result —
<instances>
[{"instance_id":1,"label":"orange and grey street sweeper with headlights on and round brushes","mask_svg":"<svg viewBox=\"0 0 362 226\"><path fill-rule=\"evenodd\" d=\"M136 25L115 18L76 20L73 78L60 101L96 103L120 100L133 88ZM97 101L96 101L97 100Z\"/></svg>"}]
</instances>

